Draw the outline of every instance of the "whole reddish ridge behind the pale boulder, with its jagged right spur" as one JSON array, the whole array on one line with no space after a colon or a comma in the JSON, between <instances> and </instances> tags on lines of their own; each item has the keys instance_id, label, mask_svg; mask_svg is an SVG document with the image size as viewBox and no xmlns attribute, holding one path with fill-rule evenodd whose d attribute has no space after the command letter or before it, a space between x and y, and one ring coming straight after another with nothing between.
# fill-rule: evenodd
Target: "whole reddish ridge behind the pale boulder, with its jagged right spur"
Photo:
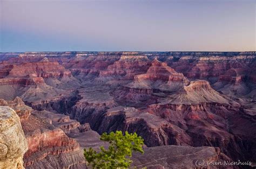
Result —
<instances>
[{"instance_id":1,"label":"whole reddish ridge behind the pale boulder, with its jagged right spur","mask_svg":"<svg viewBox=\"0 0 256 169\"><path fill-rule=\"evenodd\" d=\"M60 119L59 125L52 123L55 118L51 119L49 116L45 118L45 116L41 115L40 111L35 111L25 105L19 97L13 101L0 100L0 104L9 105L14 108L21 118L22 129L19 132L23 133L24 131L24 139L28 142L26 144L26 150L28 151L24 152L23 158L25 168L86 167L79 143L67 136L66 133L69 133L68 131L71 130L74 133L88 131L90 126L80 125L79 122L72 122L68 116ZM52 112L47 114L55 115ZM58 115L56 114L56 116Z\"/></svg>"}]
</instances>

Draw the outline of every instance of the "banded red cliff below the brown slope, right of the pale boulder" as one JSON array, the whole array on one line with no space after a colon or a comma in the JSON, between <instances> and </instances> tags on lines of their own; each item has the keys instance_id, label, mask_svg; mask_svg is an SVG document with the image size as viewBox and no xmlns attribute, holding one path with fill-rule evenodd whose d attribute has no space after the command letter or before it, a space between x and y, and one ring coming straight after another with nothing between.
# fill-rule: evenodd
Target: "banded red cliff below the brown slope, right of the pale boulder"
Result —
<instances>
[{"instance_id":1,"label":"banded red cliff below the brown slope, right of the pale boulder","mask_svg":"<svg viewBox=\"0 0 256 169\"><path fill-rule=\"evenodd\" d=\"M29 145L29 150L24 154L23 159L26 168L38 166L63 168L75 167L77 164L85 167L79 144L75 139L66 136L63 130L37 131L33 135L27 134L26 139Z\"/></svg>"}]
</instances>

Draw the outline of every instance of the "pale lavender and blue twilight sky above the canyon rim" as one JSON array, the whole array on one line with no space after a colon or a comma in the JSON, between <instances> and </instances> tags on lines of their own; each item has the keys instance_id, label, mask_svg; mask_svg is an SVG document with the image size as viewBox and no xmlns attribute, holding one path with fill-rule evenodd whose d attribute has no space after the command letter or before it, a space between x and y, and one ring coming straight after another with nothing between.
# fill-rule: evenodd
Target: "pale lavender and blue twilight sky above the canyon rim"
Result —
<instances>
[{"instance_id":1,"label":"pale lavender and blue twilight sky above the canyon rim","mask_svg":"<svg viewBox=\"0 0 256 169\"><path fill-rule=\"evenodd\" d=\"M0 0L0 52L256 51L254 0Z\"/></svg>"}]
</instances>

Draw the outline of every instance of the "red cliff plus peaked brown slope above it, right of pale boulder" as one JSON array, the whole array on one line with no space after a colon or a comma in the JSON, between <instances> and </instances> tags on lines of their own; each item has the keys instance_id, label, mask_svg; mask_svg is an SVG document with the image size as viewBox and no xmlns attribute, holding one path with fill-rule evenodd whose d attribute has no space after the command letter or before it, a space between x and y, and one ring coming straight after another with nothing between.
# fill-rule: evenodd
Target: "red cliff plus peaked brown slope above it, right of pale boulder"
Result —
<instances>
[{"instance_id":1,"label":"red cliff plus peaked brown slope above it, right of pale boulder","mask_svg":"<svg viewBox=\"0 0 256 169\"><path fill-rule=\"evenodd\" d=\"M22 121L22 128L28 139L28 151L24 154L26 168L78 168L85 167L79 144L65 132L38 118L32 113Z\"/></svg>"}]
</instances>

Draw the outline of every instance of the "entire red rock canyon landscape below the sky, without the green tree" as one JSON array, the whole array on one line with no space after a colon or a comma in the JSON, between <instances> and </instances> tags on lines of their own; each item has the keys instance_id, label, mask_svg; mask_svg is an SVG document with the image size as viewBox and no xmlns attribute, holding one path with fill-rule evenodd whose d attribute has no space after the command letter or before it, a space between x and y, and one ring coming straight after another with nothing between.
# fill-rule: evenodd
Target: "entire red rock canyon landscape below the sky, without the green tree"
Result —
<instances>
[{"instance_id":1,"label":"entire red rock canyon landscape below the sky, without the green tree","mask_svg":"<svg viewBox=\"0 0 256 169\"><path fill-rule=\"evenodd\" d=\"M117 130L144 139L132 167L253 167L255 65L256 52L2 52L0 168L87 168L83 149Z\"/></svg>"}]
</instances>

